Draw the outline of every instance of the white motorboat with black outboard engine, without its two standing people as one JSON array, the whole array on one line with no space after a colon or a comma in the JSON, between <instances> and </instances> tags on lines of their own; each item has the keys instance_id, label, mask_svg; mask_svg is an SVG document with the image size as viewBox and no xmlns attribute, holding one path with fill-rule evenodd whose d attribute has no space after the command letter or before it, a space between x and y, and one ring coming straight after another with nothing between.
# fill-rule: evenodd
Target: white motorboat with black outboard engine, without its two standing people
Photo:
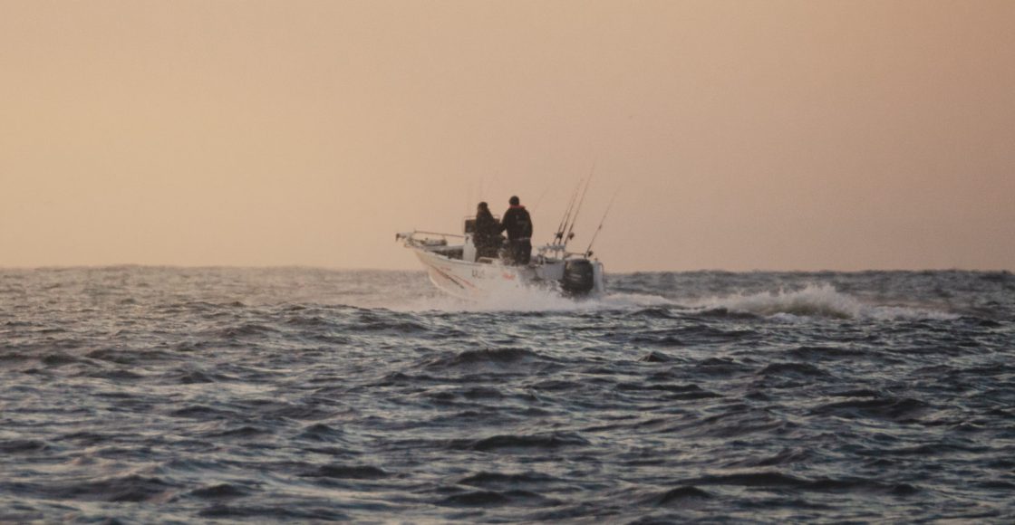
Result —
<instances>
[{"instance_id":1,"label":"white motorboat with black outboard engine, without its two standing people","mask_svg":"<svg viewBox=\"0 0 1015 525\"><path fill-rule=\"evenodd\" d=\"M604 268L592 258L592 244L584 252L567 250L573 237L569 216L551 242L533 247L527 265L478 256L475 217L465 218L461 234L413 230L396 233L395 239L415 253L433 286L461 299L480 300L515 288L551 290L571 298L601 296L606 291Z\"/></svg>"}]
</instances>

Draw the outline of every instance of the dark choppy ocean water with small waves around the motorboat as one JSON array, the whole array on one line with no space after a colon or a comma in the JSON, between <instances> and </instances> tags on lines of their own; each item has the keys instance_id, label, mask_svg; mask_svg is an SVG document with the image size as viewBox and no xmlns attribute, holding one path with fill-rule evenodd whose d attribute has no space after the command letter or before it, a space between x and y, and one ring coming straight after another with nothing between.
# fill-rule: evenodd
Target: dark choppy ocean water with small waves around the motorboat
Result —
<instances>
[{"instance_id":1,"label":"dark choppy ocean water with small waves around the motorboat","mask_svg":"<svg viewBox=\"0 0 1015 525\"><path fill-rule=\"evenodd\" d=\"M0 522L1015 521L1010 273L0 271Z\"/></svg>"}]
</instances>

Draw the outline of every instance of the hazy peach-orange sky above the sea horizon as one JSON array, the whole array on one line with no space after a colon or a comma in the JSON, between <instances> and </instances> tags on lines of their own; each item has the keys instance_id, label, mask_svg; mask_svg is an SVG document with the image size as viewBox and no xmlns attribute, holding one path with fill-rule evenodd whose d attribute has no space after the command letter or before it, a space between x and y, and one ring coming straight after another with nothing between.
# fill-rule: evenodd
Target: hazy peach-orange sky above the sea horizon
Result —
<instances>
[{"instance_id":1,"label":"hazy peach-orange sky above the sea horizon","mask_svg":"<svg viewBox=\"0 0 1015 525\"><path fill-rule=\"evenodd\" d=\"M0 0L0 267L1015 269L1015 1Z\"/></svg>"}]
</instances>

